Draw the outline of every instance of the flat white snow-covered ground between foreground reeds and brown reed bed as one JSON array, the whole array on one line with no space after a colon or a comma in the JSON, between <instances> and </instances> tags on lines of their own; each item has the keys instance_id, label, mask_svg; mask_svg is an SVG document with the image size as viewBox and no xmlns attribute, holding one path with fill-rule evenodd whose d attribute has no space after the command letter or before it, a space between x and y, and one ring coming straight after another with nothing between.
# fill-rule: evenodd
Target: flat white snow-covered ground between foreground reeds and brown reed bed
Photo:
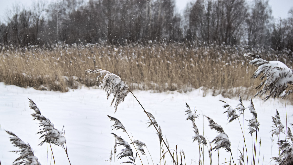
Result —
<instances>
[{"instance_id":1,"label":"flat white snow-covered ground between foreground reeds and brown reed bed","mask_svg":"<svg viewBox=\"0 0 293 165\"><path fill-rule=\"evenodd\" d=\"M235 108L239 103L237 93L234 99L223 98L221 95L212 96L209 93L203 97L203 91L200 89L187 93L178 93L176 91L164 93L133 91L133 93L144 108L154 115L158 124L162 127L163 135L166 136L170 148L176 149L176 145L178 145L178 151L184 151L186 164L198 164L199 155L197 142L192 142L192 136L194 135L192 124L190 121L185 120L185 102L190 105L191 109L196 107L197 113L200 114L199 119L196 120L197 127L200 134L204 134L209 141L214 139L217 132L209 129L207 119L203 118L203 115L212 118L216 123L222 125L231 141L234 160L238 162L236 160L239 156L238 149L242 151L243 145L241 129L236 120L227 124L226 114L223 114L225 111L222 108L223 103L219 101L224 100ZM251 93L251 96L253 94ZM106 93L98 88L82 87L81 89L61 93L38 91L33 88L25 89L0 83L0 161L2 165L12 164L13 160L18 157L17 154L9 152L17 148L10 144L9 135L4 130L9 130L24 142L28 142L41 164L50 164L51 154L47 144L38 146L41 142L39 140L40 135L36 135L39 128L37 121L33 120L30 115L33 113L33 110L29 108L28 98L36 103L42 115L49 118L54 123L55 128L62 130L64 125L71 164L110 164L109 161L105 160L109 159L110 151L114 144L114 137L111 135L111 132L121 136L130 143L125 132L111 130L113 122L109 120L107 115L119 119L126 127L127 132L130 133L130 136L133 136L133 139L146 143L154 164L159 164L160 144L158 136L154 127L147 127L148 118L131 94L128 94L125 101L118 106L117 112L114 113L114 107L110 107L112 98L109 98L107 101ZM259 98L253 98L253 103L258 113L258 121L260 122L260 133L258 133L258 137L261 138L259 164L263 162L263 164L273 164L274 161L270 162L270 158L278 155L278 149L276 144L277 137L274 137L273 146L270 139L271 116L275 115L277 109L282 123L286 124L284 100L269 99L263 102ZM249 101L243 100L243 104L245 107L248 107ZM287 105L288 126L289 123L293 122L292 109L293 106ZM247 109L245 111L245 118L251 119L251 117L252 115ZM253 139L248 134L247 128L247 122L245 122L248 155L251 157L251 143ZM284 139L284 135L282 137ZM119 149L121 148L118 148L117 153L120 152ZM52 150L57 165L69 164L64 149L52 146ZM259 151L259 148L257 151ZM47 152L49 153L48 156ZM153 164L148 152L147 156L149 164ZM145 162L144 164L148 164L146 157L141 157ZM209 164L208 157L207 148L205 147L205 164ZM219 164L224 163L225 159L226 161L230 160L229 153L221 149L219 151L219 159ZM250 164L251 159L248 158L248 160ZM115 159L115 164L122 161ZM171 164L171 159L168 155L167 161L169 161L168 164ZM136 163L141 164L139 158L137 158ZM213 153L213 163L218 164L217 152ZM54 163L52 162L51 164Z\"/></svg>"}]
</instances>

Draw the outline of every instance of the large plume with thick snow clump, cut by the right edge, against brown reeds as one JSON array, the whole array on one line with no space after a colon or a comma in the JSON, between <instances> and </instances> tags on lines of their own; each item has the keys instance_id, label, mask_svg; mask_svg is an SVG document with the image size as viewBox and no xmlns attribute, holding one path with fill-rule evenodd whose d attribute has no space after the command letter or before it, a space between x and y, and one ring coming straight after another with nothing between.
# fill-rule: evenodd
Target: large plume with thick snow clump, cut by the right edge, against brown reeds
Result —
<instances>
[{"instance_id":1,"label":"large plume with thick snow clump, cut by the right edge, against brown reeds","mask_svg":"<svg viewBox=\"0 0 293 165\"><path fill-rule=\"evenodd\" d=\"M261 96L268 92L268 96L265 97L265 100L268 100L270 97L285 97L292 93L293 71L287 65L280 61L266 61L259 55L252 53L245 53L244 56L252 57L253 59L249 64L258 67L252 77L259 77L262 80L260 85L256 87L258 90L262 89L255 96Z\"/></svg>"}]
</instances>

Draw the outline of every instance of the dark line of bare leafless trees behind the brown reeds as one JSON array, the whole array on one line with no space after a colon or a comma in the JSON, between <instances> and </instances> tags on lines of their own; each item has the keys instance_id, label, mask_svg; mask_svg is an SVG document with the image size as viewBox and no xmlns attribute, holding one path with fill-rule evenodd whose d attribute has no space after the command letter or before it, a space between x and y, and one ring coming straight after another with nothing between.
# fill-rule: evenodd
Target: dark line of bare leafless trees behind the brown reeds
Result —
<instances>
[{"instance_id":1,"label":"dark line of bare leafless trees behind the brown reeds","mask_svg":"<svg viewBox=\"0 0 293 165\"><path fill-rule=\"evenodd\" d=\"M0 23L2 45L58 42L110 44L188 42L293 50L293 8L273 19L268 0L196 0L184 12L175 0L37 1L14 5Z\"/></svg>"}]
</instances>

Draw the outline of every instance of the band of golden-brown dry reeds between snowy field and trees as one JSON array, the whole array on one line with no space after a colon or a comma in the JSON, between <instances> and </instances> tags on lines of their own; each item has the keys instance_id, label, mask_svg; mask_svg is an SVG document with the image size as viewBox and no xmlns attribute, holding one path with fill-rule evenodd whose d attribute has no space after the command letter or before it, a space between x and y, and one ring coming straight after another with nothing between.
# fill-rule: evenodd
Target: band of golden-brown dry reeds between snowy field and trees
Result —
<instances>
[{"instance_id":1,"label":"band of golden-brown dry reeds between snowy field and trees","mask_svg":"<svg viewBox=\"0 0 293 165\"><path fill-rule=\"evenodd\" d=\"M225 97L255 93L259 80L251 79L255 67L248 67L244 53L292 64L290 50L274 51L246 46L189 43L149 43L129 45L55 44L24 48L2 46L0 81L39 90L66 92L82 85L95 86L95 76L82 71L107 69L117 74L130 89L182 91L203 87ZM245 96L245 94L248 94Z\"/></svg>"}]
</instances>

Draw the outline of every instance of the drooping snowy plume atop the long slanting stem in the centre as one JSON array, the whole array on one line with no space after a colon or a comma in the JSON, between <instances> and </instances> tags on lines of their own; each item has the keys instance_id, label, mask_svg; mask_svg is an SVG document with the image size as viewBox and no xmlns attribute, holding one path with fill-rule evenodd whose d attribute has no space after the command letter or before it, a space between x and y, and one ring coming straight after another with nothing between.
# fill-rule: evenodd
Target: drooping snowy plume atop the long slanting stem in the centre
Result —
<instances>
[{"instance_id":1,"label":"drooping snowy plume atop the long slanting stem in the centre","mask_svg":"<svg viewBox=\"0 0 293 165\"><path fill-rule=\"evenodd\" d=\"M100 89L107 92L107 99L111 94L114 95L114 98L111 102L111 106L115 101L114 107L116 112L117 106L124 101L125 97L129 93L127 84L124 81L122 81L119 76L106 70L88 69L86 70L86 72L90 74L99 74L97 76L97 80L104 76L102 81L100 82Z\"/></svg>"}]
</instances>

